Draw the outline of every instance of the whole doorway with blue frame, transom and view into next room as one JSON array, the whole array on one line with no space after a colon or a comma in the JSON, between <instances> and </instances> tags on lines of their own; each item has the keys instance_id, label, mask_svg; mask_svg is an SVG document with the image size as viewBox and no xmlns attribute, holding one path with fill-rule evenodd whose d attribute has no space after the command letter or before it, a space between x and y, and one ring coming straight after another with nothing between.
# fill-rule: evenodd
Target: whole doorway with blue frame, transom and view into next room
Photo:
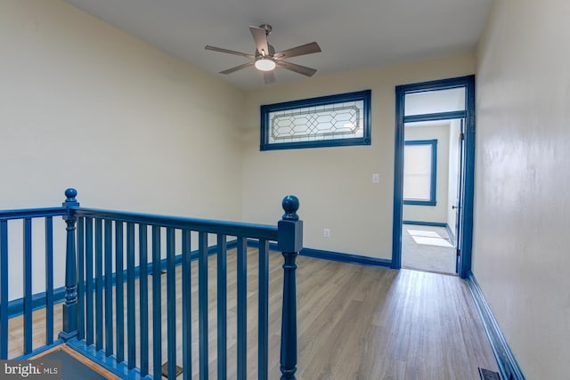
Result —
<instances>
[{"instance_id":1,"label":"whole doorway with blue frame, transom and view into next room","mask_svg":"<svg viewBox=\"0 0 570 380\"><path fill-rule=\"evenodd\" d=\"M396 87L394 268L471 270L474 79Z\"/></svg>"}]
</instances>

